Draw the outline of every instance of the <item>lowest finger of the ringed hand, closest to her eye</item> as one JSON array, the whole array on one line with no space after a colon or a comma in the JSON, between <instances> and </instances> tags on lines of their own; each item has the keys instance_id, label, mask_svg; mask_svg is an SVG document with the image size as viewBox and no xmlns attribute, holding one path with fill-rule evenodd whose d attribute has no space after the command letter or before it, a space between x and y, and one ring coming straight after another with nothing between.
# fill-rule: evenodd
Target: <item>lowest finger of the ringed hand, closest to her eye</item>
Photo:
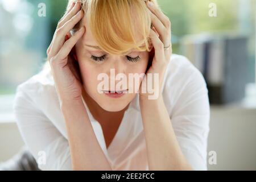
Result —
<instances>
[{"instance_id":1,"label":"lowest finger of the ringed hand, closest to her eye","mask_svg":"<svg viewBox=\"0 0 256 182\"><path fill-rule=\"evenodd\" d=\"M164 45L163 42L158 38L158 35L154 30L150 28L150 39L153 47L155 48L155 61L164 63L165 55L164 55Z\"/></svg>"}]
</instances>

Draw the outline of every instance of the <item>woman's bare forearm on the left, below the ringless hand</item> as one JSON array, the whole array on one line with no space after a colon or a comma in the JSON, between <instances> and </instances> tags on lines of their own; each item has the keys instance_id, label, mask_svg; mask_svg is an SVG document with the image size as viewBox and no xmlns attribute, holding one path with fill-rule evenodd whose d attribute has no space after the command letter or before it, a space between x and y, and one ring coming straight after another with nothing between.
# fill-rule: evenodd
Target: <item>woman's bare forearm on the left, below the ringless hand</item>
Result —
<instances>
[{"instance_id":1,"label":"woman's bare forearm on the left, below the ringless hand","mask_svg":"<svg viewBox=\"0 0 256 182\"><path fill-rule=\"evenodd\" d=\"M82 100L63 103L61 110L67 128L73 169L111 170Z\"/></svg>"}]
</instances>

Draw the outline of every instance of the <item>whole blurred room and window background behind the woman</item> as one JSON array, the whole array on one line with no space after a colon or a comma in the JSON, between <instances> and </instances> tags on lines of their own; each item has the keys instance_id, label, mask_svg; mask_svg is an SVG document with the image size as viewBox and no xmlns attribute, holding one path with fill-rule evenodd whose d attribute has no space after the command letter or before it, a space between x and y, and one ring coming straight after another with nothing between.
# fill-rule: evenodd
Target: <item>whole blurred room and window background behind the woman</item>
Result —
<instances>
[{"instance_id":1,"label":"whole blurred room and window background behind the woman","mask_svg":"<svg viewBox=\"0 0 256 182\"><path fill-rule=\"evenodd\" d=\"M174 53L187 56L209 90L209 170L256 169L256 0L158 0ZM0 0L0 163L24 143L12 112L16 86L42 69L65 0ZM46 8L44 15L40 9ZM40 11L40 12L39 12ZM216 160L212 162L212 157ZM1 166L1 165L0 165Z\"/></svg>"}]
</instances>

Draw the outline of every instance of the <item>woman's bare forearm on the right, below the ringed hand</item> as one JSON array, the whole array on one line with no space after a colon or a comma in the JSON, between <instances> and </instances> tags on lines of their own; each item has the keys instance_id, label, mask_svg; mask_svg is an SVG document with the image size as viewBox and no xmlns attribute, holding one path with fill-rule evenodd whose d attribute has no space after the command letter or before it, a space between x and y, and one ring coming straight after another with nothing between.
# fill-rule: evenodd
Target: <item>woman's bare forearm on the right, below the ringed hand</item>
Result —
<instances>
[{"instance_id":1,"label":"woman's bare forearm on the right, below the ringed hand","mask_svg":"<svg viewBox=\"0 0 256 182\"><path fill-rule=\"evenodd\" d=\"M162 95L140 100L150 170L192 169L182 154Z\"/></svg>"}]
</instances>

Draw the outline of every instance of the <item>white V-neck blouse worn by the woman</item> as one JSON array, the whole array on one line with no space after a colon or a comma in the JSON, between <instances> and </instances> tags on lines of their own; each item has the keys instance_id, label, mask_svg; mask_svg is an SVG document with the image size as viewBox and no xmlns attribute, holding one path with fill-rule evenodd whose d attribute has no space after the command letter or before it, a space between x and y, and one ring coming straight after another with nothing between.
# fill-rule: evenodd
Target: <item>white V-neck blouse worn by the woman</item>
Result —
<instances>
[{"instance_id":1,"label":"white V-neck blouse worn by the woman","mask_svg":"<svg viewBox=\"0 0 256 182\"><path fill-rule=\"evenodd\" d=\"M185 158L193 169L207 170L209 100L203 76L186 57L173 54L162 94ZM138 97L137 94L125 111L108 149L100 123L84 102L94 133L113 170L148 170ZM72 170L64 117L49 70L18 86L14 115L24 143L40 169Z\"/></svg>"}]
</instances>

